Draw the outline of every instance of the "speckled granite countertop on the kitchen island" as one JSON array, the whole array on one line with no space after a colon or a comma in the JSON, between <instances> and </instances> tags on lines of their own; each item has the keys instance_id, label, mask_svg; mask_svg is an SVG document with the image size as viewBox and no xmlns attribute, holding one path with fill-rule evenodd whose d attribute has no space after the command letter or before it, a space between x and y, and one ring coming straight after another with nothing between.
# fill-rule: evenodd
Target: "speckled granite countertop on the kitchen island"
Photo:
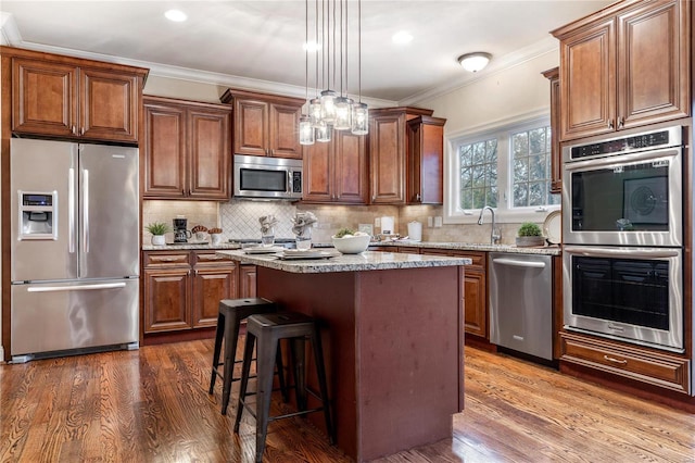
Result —
<instances>
[{"instance_id":1,"label":"speckled granite countertop on the kitchen island","mask_svg":"<svg viewBox=\"0 0 695 463\"><path fill-rule=\"evenodd\" d=\"M337 273L366 272L378 270L424 268L455 265L469 265L468 258L450 258L444 255L422 255L397 252L365 251L359 254L341 254L338 251L323 251L329 259L281 260L277 254L247 254L243 251L219 250L218 254L231 260L261 265L268 268L290 273Z\"/></svg>"}]
</instances>

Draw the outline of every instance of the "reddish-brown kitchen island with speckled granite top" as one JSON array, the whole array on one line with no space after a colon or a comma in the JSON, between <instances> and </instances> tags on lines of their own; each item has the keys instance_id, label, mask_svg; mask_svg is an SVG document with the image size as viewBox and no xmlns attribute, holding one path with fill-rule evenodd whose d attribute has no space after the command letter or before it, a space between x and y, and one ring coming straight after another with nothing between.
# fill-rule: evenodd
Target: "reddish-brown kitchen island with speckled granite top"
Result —
<instances>
[{"instance_id":1,"label":"reddish-brown kitchen island with speckled granite top","mask_svg":"<svg viewBox=\"0 0 695 463\"><path fill-rule=\"evenodd\" d=\"M469 259L217 252L257 266L260 297L320 320L337 443L349 455L370 461L452 436L464 408Z\"/></svg>"}]
</instances>

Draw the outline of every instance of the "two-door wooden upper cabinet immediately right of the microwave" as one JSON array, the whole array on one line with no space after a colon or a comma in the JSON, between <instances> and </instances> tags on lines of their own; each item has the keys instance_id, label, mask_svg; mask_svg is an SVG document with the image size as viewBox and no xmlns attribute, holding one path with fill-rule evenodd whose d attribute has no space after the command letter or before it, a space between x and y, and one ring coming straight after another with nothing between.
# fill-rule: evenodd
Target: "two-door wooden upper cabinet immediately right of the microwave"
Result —
<instances>
[{"instance_id":1,"label":"two-door wooden upper cabinet immediately right of the microwave","mask_svg":"<svg viewBox=\"0 0 695 463\"><path fill-rule=\"evenodd\" d=\"M367 202L366 137L333 130L329 142L303 147L304 202Z\"/></svg>"}]
</instances>

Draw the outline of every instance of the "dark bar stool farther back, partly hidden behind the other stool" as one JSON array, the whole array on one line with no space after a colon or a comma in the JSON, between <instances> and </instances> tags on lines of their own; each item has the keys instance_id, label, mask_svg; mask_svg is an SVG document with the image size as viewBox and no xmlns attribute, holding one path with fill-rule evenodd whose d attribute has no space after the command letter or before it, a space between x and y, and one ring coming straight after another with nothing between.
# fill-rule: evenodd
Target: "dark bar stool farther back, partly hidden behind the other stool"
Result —
<instances>
[{"instance_id":1,"label":"dark bar stool farther back, partly hidden behind the other stool","mask_svg":"<svg viewBox=\"0 0 695 463\"><path fill-rule=\"evenodd\" d=\"M222 414L227 414L229 405L229 395L231 393L231 383L241 378L233 377L235 363L241 363L236 360L237 341L239 339L239 327L241 322L253 314L276 312L275 302L263 298L244 298L244 299L223 299L219 301L219 314L217 315L217 330L215 331L215 351L213 353L213 371L210 377L210 393L215 388L215 379L219 376L223 379L222 390ZM222 350L222 341L225 340L225 358L224 362L219 362ZM279 347L278 347L279 349ZM277 355L277 371L279 376L280 389L285 401L288 400L287 388L285 387L285 374L282 368L282 358ZM224 366L223 373L219 367Z\"/></svg>"}]
</instances>

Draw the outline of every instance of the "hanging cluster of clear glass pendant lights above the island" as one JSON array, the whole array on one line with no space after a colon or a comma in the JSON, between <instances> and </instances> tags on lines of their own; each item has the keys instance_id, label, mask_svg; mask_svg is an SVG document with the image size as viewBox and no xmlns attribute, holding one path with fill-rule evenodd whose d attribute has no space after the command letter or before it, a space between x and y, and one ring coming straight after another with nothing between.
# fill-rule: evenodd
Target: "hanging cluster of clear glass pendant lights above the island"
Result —
<instances>
[{"instance_id":1,"label":"hanging cluster of clear glass pendant lights above the island","mask_svg":"<svg viewBox=\"0 0 695 463\"><path fill-rule=\"evenodd\" d=\"M306 1L306 41L308 43L308 0ZM355 135L368 133L367 104L362 102L362 0L357 0L357 76L359 100L349 97L349 1L315 1L315 41L320 50L316 53L316 88L319 87L318 74L321 73L320 96L308 99L308 51L306 54L306 107L308 115L300 120L300 141L311 145L308 127L314 129L316 141L330 141L332 130L351 130ZM320 18L319 18L320 1ZM354 22L353 22L354 23ZM320 30L319 30L320 24ZM308 47L306 47L308 49ZM336 80L340 83L340 93ZM305 135L303 135L305 134ZM304 141L302 141L304 140Z\"/></svg>"}]
</instances>

